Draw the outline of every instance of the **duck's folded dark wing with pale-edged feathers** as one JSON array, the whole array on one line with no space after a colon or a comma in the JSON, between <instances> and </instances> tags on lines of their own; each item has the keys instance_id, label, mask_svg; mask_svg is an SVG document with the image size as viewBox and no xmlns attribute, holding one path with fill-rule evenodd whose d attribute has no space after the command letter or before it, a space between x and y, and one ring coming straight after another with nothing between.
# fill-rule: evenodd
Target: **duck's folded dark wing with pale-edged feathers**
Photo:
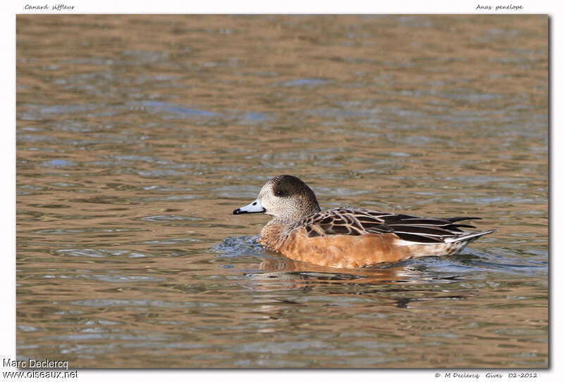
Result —
<instances>
[{"instance_id":1,"label":"duck's folded dark wing with pale-edged feathers","mask_svg":"<svg viewBox=\"0 0 564 382\"><path fill-rule=\"evenodd\" d=\"M444 243L446 238L465 234L460 228L475 228L458 224L461 220L479 217L449 217L427 219L362 208L334 208L318 212L299 223L308 237L328 235L396 234L405 241Z\"/></svg>"}]
</instances>

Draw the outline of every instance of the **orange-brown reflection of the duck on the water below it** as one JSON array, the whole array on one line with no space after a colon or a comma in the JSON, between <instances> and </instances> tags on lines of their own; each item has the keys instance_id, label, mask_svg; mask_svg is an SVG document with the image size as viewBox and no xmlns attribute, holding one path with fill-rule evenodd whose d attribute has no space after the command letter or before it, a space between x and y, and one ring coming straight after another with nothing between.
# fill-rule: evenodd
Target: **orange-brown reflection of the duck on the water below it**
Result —
<instances>
[{"instance_id":1,"label":"orange-brown reflection of the duck on the water below it","mask_svg":"<svg viewBox=\"0 0 564 382\"><path fill-rule=\"evenodd\" d=\"M258 269L260 272L248 272L245 276L247 288L260 292L300 290L305 295L355 296L403 308L425 300L458 300L477 294L475 290L460 288L450 277L438 279L433 272L410 262L336 269L281 257L262 257Z\"/></svg>"}]
</instances>

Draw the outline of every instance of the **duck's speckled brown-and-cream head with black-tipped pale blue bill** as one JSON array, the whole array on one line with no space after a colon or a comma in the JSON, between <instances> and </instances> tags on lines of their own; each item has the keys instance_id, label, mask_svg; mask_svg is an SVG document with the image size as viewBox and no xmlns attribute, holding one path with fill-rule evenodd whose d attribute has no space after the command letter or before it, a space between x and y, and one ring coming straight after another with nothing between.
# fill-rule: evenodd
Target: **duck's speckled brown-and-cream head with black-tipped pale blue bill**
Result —
<instances>
[{"instance_id":1,"label":"duck's speckled brown-and-cream head with black-tipped pale blue bill","mask_svg":"<svg viewBox=\"0 0 564 382\"><path fill-rule=\"evenodd\" d=\"M280 175L262 186L254 202L233 211L233 215L263 212L279 222L291 223L319 212L312 189L297 177Z\"/></svg>"}]
</instances>

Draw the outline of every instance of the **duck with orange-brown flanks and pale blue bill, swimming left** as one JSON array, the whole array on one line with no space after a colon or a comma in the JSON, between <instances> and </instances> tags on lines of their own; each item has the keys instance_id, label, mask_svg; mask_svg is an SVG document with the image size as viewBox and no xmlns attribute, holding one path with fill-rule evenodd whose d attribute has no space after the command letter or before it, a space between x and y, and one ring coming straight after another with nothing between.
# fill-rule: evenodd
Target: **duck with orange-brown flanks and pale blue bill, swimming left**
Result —
<instances>
[{"instance_id":1,"label":"duck with orange-brown flanks and pale blue bill, swimming left","mask_svg":"<svg viewBox=\"0 0 564 382\"><path fill-rule=\"evenodd\" d=\"M256 200L233 215L263 213L272 219L257 241L291 260L332 268L360 268L414 257L455 255L489 231L461 224L480 217L427 218L366 208L321 211L314 191L293 175L262 186Z\"/></svg>"}]
</instances>

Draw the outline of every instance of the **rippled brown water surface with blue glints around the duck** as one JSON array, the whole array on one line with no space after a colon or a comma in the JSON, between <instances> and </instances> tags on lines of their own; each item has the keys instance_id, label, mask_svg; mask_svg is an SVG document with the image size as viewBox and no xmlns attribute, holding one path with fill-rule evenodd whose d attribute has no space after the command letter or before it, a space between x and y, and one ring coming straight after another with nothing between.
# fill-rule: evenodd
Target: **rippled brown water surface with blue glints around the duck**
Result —
<instances>
[{"instance_id":1,"label":"rippled brown water surface with blue glints around the duck","mask_svg":"<svg viewBox=\"0 0 564 382\"><path fill-rule=\"evenodd\" d=\"M69 367L546 367L543 15L18 15L17 352ZM233 216L481 216L341 271Z\"/></svg>"}]
</instances>

